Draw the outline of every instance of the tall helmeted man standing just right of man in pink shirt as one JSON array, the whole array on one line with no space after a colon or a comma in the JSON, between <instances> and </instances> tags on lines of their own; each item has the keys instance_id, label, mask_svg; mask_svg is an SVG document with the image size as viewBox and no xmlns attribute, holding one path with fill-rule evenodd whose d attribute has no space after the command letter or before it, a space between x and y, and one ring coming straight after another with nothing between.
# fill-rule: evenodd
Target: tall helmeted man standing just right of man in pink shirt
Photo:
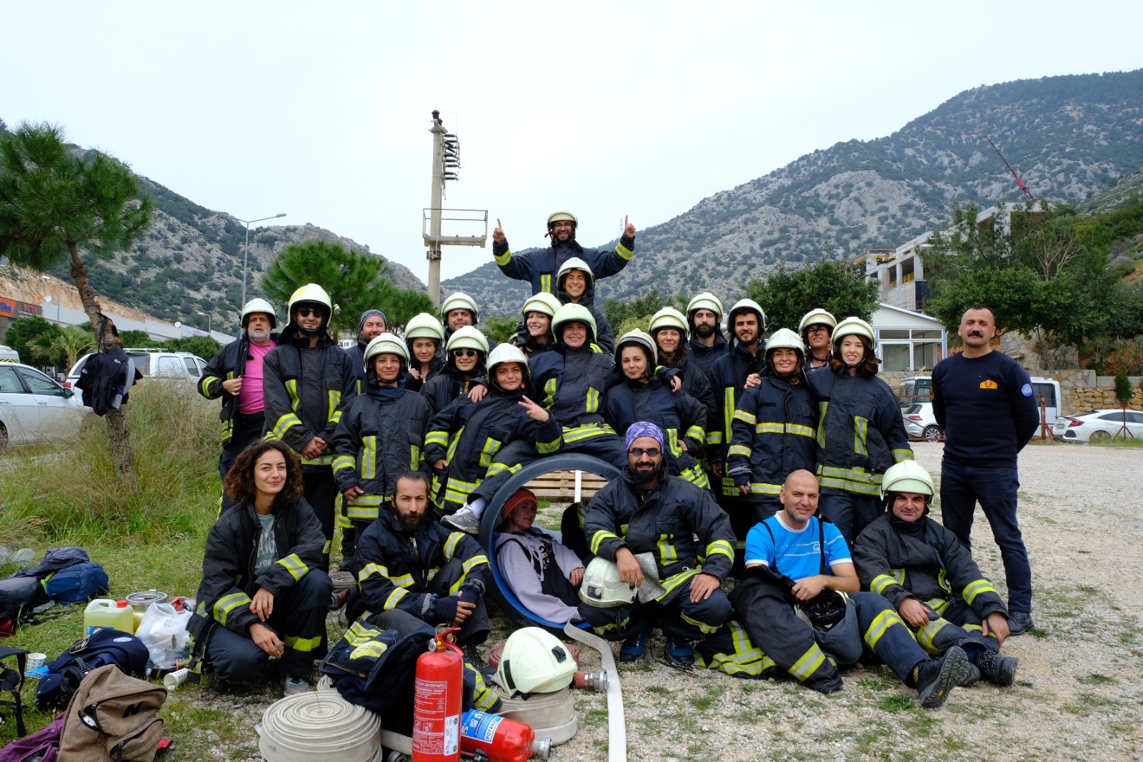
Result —
<instances>
[{"instance_id":1,"label":"tall helmeted man standing just right of man in pink shirt","mask_svg":"<svg viewBox=\"0 0 1143 762\"><path fill-rule=\"evenodd\" d=\"M329 335L331 312L333 302L321 286L311 283L295 291L289 300L289 325L278 348L266 355L263 381L265 438L281 439L302 459L305 499L327 540L327 569L337 500L330 443L342 407L357 389L349 355Z\"/></svg>"}]
</instances>

